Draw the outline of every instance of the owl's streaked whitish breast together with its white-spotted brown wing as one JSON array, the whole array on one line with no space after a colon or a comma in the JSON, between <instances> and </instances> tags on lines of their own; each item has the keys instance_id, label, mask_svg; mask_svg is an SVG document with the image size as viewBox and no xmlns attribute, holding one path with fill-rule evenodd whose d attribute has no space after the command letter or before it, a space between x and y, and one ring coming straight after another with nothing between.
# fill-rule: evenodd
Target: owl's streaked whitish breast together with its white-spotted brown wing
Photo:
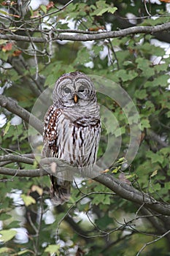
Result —
<instances>
[{"instance_id":1,"label":"owl's streaked whitish breast together with its white-spotted brown wing","mask_svg":"<svg viewBox=\"0 0 170 256\"><path fill-rule=\"evenodd\" d=\"M85 112L82 110L82 116L76 119L77 111L73 116L55 106L50 107L46 133L51 157L65 159L75 166L93 165L96 162L101 127L99 108L93 117L83 116Z\"/></svg>"}]
</instances>

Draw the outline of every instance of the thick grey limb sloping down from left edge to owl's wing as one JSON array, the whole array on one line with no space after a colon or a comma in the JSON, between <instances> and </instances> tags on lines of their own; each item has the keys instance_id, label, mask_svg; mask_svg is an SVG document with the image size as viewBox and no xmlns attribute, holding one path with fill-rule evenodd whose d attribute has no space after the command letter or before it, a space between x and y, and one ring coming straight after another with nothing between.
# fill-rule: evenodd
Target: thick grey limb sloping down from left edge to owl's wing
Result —
<instances>
[{"instance_id":1,"label":"thick grey limb sloping down from left edge to owl's wing","mask_svg":"<svg viewBox=\"0 0 170 256\"><path fill-rule=\"evenodd\" d=\"M20 107L20 105L18 105L14 99L0 95L0 106L2 108L6 108L17 116L20 116L20 118L23 118L24 121L26 121L28 124L31 124L32 127L34 127L42 134L42 122L39 121L39 119L33 116L31 113L29 113L26 109Z\"/></svg>"}]
</instances>

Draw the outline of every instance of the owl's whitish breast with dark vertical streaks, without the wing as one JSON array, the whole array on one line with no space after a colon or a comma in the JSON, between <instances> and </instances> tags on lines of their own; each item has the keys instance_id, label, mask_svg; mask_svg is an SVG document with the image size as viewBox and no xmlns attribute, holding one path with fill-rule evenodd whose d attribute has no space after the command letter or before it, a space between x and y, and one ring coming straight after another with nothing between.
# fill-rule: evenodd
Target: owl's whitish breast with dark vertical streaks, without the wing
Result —
<instances>
[{"instance_id":1,"label":"owl's whitish breast with dark vertical streaks, without the wing","mask_svg":"<svg viewBox=\"0 0 170 256\"><path fill-rule=\"evenodd\" d=\"M100 120L84 118L72 122L61 115L58 120L57 157L75 166L93 165L96 162L100 129Z\"/></svg>"}]
</instances>

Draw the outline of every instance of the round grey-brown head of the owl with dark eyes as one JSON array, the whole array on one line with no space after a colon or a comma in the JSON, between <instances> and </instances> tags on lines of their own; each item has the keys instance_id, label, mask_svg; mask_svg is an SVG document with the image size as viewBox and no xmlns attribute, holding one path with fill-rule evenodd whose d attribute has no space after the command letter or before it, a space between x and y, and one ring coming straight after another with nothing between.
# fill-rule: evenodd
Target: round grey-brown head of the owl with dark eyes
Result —
<instances>
[{"instance_id":1,"label":"round grey-brown head of the owl with dark eyes","mask_svg":"<svg viewBox=\"0 0 170 256\"><path fill-rule=\"evenodd\" d=\"M53 103L62 107L82 107L96 102L96 90L92 81L82 72L62 75L55 83Z\"/></svg>"}]
</instances>

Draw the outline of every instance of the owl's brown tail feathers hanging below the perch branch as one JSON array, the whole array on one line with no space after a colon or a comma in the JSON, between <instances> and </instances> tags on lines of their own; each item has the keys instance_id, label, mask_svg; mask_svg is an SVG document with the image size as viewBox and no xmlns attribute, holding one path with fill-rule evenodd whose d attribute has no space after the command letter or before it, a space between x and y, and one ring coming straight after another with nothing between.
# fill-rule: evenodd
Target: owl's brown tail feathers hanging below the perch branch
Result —
<instances>
[{"instance_id":1,"label":"owl's brown tail feathers hanging below the perch branch","mask_svg":"<svg viewBox=\"0 0 170 256\"><path fill-rule=\"evenodd\" d=\"M51 179L51 199L55 206L62 205L69 200L71 181L64 181L61 178L50 176Z\"/></svg>"}]
</instances>

